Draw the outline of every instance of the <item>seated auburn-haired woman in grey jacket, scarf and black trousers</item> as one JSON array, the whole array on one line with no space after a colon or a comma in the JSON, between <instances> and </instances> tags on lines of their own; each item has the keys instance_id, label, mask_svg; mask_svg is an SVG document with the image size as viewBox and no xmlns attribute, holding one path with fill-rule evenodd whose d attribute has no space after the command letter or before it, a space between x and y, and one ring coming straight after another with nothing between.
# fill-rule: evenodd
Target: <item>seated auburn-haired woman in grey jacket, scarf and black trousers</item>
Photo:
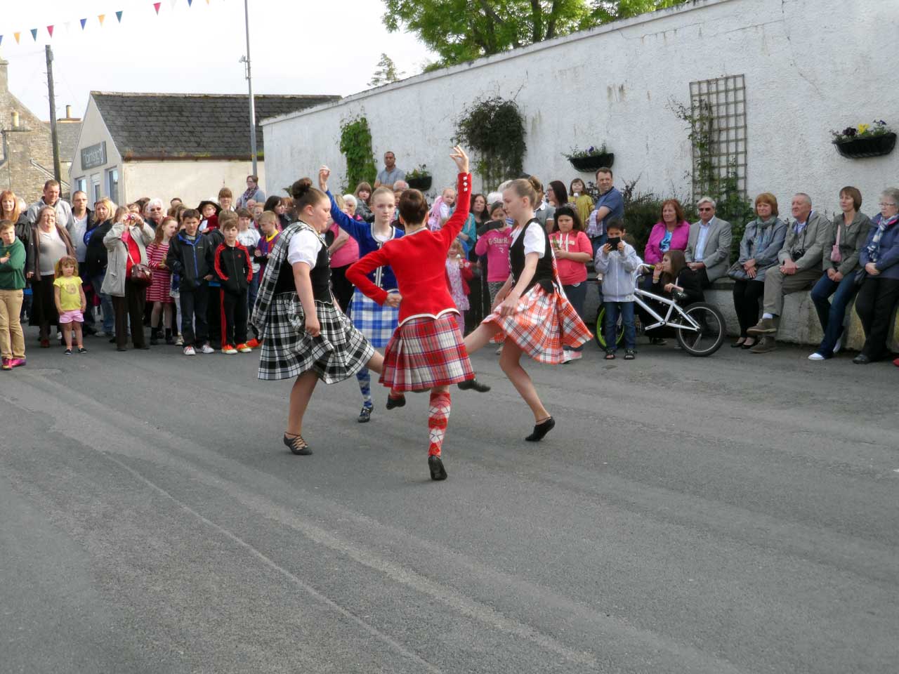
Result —
<instances>
[{"instance_id":1,"label":"seated auburn-haired woman in grey jacket, scarf and black trousers","mask_svg":"<svg viewBox=\"0 0 899 674\"><path fill-rule=\"evenodd\" d=\"M778 200L770 192L755 198L758 217L746 225L740 240L740 257L727 270L734 279L734 309L740 324L740 338L734 349L751 349L755 337L749 330L759 321L759 300L765 293L765 271L778 263L778 253L787 238L787 223L778 217Z\"/></svg>"}]
</instances>

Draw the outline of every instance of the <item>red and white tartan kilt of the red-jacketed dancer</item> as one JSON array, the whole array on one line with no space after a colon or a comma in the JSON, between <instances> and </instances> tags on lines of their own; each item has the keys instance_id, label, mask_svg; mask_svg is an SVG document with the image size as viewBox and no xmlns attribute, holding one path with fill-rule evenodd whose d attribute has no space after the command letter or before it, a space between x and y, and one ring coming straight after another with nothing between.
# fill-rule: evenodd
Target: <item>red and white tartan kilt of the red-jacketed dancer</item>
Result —
<instances>
[{"instance_id":1,"label":"red and white tartan kilt of the red-jacketed dancer","mask_svg":"<svg viewBox=\"0 0 899 674\"><path fill-rule=\"evenodd\" d=\"M456 315L412 318L396 328L379 379L396 391L427 391L474 379Z\"/></svg>"}]
</instances>

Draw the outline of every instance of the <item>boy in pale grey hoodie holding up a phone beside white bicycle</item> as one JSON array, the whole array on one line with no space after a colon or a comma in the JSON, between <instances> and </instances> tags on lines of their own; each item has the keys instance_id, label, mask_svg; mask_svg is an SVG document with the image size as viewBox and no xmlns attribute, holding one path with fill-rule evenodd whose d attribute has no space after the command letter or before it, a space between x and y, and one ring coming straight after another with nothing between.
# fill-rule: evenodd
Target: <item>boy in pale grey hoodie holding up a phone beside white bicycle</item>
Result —
<instances>
[{"instance_id":1,"label":"boy in pale grey hoodie holding up a phone beside white bicycle","mask_svg":"<svg viewBox=\"0 0 899 674\"><path fill-rule=\"evenodd\" d=\"M626 244L624 223L618 217L606 225L609 235L593 261L597 273L602 274L602 304L606 309L606 360L614 360L618 350L618 319L624 327L624 359L636 356L636 327L634 324L634 290L636 275L643 261L634 246Z\"/></svg>"}]
</instances>

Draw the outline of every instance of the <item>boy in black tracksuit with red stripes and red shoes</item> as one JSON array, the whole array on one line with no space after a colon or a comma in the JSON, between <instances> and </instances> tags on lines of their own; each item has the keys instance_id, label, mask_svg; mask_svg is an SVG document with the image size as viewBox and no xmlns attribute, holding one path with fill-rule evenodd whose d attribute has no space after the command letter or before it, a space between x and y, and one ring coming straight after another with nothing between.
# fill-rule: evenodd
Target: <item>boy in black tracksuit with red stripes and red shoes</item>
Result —
<instances>
[{"instance_id":1,"label":"boy in black tracksuit with red stripes and red shoes","mask_svg":"<svg viewBox=\"0 0 899 674\"><path fill-rule=\"evenodd\" d=\"M215 270L221 279L221 331L223 353L249 353L246 345L246 293L253 280L253 265L250 253L237 243L237 223L228 220L219 224L224 243L215 253Z\"/></svg>"}]
</instances>

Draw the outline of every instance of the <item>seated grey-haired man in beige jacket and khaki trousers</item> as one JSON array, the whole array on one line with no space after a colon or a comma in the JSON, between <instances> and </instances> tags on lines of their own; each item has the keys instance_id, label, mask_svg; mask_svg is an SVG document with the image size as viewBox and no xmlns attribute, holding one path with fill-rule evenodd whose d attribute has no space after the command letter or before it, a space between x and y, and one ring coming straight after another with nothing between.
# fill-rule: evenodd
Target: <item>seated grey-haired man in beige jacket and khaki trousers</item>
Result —
<instances>
[{"instance_id":1,"label":"seated grey-haired man in beige jacket and khaki trousers","mask_svg":"<svg viewBox=\"0 0 899 674\"><path fill-rule=\"evenodd\" d=\"M761 321L746 332L763 339L752 347L752 353L768 353L776 348L777 318L784 308L784 295L809 290L823 274L824 248L832 235L832 222L812 210L812 198L805 192L793 197L793 217L787 239L778 253L780 265L765 272L765 295Z\"/></svg>"}]
</instances>

